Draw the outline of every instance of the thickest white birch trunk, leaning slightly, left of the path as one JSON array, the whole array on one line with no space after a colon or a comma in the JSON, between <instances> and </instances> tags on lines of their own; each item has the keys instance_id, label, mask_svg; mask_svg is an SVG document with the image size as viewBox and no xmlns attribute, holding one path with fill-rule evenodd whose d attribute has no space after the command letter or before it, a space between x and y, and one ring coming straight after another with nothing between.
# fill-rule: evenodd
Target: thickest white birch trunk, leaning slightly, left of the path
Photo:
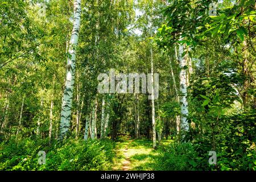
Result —
<instances>
[{"instance_id":1,"label":"thickest white birch trunk, leaning slightly, left of the path","mask_svg":"<svg viewBox=\"0 0 256 182\"><path fill-rule=\"evenodd\" d=\"M65 88L63 103L61 105L60 116L60 139L67 135L71 122L71 109L73 99L73 87L75 84L75 69L76 69L76 46L79 39L79 28L81 19L81 0L74 2L74 22L71 34L69 55L67 61L67 73L65 79Z\"/></svg>"}]
</instances>

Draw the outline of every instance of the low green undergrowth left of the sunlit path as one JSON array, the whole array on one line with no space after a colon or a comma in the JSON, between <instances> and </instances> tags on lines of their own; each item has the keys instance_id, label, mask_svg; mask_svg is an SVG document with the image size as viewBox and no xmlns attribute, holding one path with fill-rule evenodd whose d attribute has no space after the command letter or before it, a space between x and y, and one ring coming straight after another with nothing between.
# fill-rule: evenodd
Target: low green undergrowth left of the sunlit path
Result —
<instances>
[{"instance_id":1,"label":"low green undergrowth left of the sunlit path","mask_svg":"<svg viewBox=\"0 0 256 182\"><path fill-rule=\"evenodd\" d=\"M109 169L114 143L110 140L10 139L0 146L0 170L101 170ZM38 152L46 152L46 164L38 164Z\"/></svg>"}]
</instances>

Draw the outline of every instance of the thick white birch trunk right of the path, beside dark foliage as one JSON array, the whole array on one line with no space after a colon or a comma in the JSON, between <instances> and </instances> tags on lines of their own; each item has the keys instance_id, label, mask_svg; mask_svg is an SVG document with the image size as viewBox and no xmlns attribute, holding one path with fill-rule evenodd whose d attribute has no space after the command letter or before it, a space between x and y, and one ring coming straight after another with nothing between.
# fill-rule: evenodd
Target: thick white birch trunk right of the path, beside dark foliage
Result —
<instances>
[{"instance_id":1,"label":"thick white birch trunk right of the path, beside dark foliage","mask_svg":"<svg viewBox=\"0 0 256 182\"><path fill-rule=\"evenodd\" d=\"M187 121L188 117L188 101L187 101L187 81L186 81L186 71L184 66L186 65L185 57L182 57L184 52L183 45L179 46L179 64L180 64L180 105L181 105L181 130L188 131L189 125Z\"/></svg>"}]
</instances>

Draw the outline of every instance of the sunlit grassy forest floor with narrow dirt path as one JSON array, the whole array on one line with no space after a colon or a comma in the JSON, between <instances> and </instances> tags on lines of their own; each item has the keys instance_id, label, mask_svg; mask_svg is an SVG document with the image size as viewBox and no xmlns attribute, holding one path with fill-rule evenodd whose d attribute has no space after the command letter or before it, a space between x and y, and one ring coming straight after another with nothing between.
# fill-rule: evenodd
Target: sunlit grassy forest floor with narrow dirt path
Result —
<instances>
[{"instance_id":1,"label":"sunlit grassy forest floor with narrow dirt path","mask_svg":"<svg viewBox=\"0 0 256 182\"><path fill-rule=\"evenodd\" d=\"M170 144L171 140L162 140L161 147ZM128 135L117 139L115 145L115 158L113 159L113 170L158 170L160 167L160 150L152 148L152 140L145 138L132 139Z\"/></svg>"}]
</instances>

